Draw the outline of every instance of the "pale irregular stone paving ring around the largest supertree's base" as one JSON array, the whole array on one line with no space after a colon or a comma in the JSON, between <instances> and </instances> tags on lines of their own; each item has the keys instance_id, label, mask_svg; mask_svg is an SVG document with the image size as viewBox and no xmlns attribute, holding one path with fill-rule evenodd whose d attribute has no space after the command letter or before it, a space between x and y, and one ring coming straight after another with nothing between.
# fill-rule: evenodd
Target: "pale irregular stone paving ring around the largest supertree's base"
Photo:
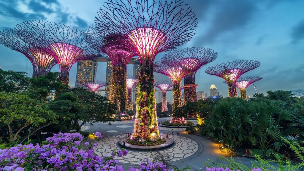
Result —
<instances>
[{"instance_id":1,"label":"pale irregular stone paving ring around the largest supertree's base","mask_svg":"<svg viewBox=\"0 0 304 171\"><path fill-rule=\"evenodd\" d=\"M197 143L192 139L181 137L181 136L171 136L171 138L176 142L176 145L167 148L164 150L160 150L161 153L167 153L169 156L172 157L172 161L177 161L181 159L185 159L193 155L199 148ZM118 150L119 147L116 146L116 142L119 141L119 135L105 137L102 138L99 142L97 147L95 148L96 155L109 155L111 150ZM132 163L132 164L140 164L140 162L146 162L146 158L150 161L151 154L150 152L146 151L135 151L135 150L128 150L128 155L122 157L116 157L119 162L121 163ZM152 152L153 153L156 152Z\"/></svg>"}]
</instances>

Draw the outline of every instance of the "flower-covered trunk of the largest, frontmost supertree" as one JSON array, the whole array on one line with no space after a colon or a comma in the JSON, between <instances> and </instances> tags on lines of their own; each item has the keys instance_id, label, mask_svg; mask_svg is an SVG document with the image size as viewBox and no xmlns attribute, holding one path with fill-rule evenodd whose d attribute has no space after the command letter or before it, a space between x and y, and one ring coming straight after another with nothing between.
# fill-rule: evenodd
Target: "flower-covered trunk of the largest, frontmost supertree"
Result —
<instances>
[{"instance_id":1,"label":"flower-covered trunk of the largest, frontmost supertree","mask_svg":"<svg viewBox=\"0 0 304 171\"><path fill-rule=\"evenodd\" d=\"M154 67L150 60L140 65L138 78L138 95L136 99L136 118L134 123L134 140L154 140L158 138L156 98L154 90Z\"/></svg>"}]
</instances>

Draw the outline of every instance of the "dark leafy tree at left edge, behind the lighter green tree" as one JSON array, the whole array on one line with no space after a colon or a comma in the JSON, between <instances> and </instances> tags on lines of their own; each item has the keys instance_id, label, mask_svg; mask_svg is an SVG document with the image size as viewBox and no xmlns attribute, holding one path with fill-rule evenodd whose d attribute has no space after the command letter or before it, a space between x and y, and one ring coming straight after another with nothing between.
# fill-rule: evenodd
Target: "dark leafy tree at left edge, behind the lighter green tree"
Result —
<instances>
[{"instance_id":1,"label":"dark leafy tree at left edge, behind the lighter green tree","mask_svg":"<svg viewBox=\"0 0 304 171\"><path fill-rule=\"evenodd\" d=\"M0 92L20 92L29 85L25 72L0 69Z\"/></svg>"}]
</instances>

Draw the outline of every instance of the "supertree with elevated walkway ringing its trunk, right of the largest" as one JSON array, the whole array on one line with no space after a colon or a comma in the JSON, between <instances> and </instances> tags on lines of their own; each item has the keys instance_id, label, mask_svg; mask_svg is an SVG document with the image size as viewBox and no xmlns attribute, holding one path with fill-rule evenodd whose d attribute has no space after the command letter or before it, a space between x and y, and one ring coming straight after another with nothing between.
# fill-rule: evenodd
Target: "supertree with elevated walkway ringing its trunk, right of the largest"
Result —
<instances>
[{"instance_id":1,"label":"supertree with elevated walkway ringing its trunk, right of the largest","mask_svg":"<svg viewBox=\"0 0 304 171\"><path fill-rule=\"evenodd\" d=\"M195 74L202 66L214 61L217 58L217 52L204 47L187 47L174 50L164 58L177 60L181 66L190 71L184 77L185 103L197 101Z\"/></svg>"}]
</instances>

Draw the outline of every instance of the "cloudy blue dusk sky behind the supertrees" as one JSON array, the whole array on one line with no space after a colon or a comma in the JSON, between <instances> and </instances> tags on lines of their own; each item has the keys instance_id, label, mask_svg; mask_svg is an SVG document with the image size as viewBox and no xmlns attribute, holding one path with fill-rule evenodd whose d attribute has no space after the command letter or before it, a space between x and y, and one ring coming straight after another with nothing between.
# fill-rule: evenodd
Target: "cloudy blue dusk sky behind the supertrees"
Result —
<instances>
[{"instance_id":1,"label":"cloudy blue dusk sky behind the supertrees","mask_svg":"<svg viewBox=\"0 0 304 171\"><path fill-rule=\"evenodd\" d=\"M304 1L302 0L184 0L193 9L198 26L195 36L181 47L209 47L218 58L196 74L197 91L209 95L212 84L227 96L223 79L207 75L207 67L239 59L258 60L261 66L243 76L262 76L254 85L259 93L268 90L304 89ZM85 30L94 24L95 15L105 0L0 0L0 30L11 29L25 20L64 23ZM165 53L157 54L159 60ZM31 77L33 68L19 52L0 45L0 67L24 71ZM127 73L132 74L133 65ZM77 64L70 71L74 86ZM55 66L52 71L59 71ZM106 63L99 62L97 80L105 81ZM168 77L155 73L155 80ZM254 87L247 95L255 93ZM240 93L238 93L240 95ZM158 93L156 93L158 100ZM167 92L168 102L172 91Z\"/></svg>"}]
</instances>

